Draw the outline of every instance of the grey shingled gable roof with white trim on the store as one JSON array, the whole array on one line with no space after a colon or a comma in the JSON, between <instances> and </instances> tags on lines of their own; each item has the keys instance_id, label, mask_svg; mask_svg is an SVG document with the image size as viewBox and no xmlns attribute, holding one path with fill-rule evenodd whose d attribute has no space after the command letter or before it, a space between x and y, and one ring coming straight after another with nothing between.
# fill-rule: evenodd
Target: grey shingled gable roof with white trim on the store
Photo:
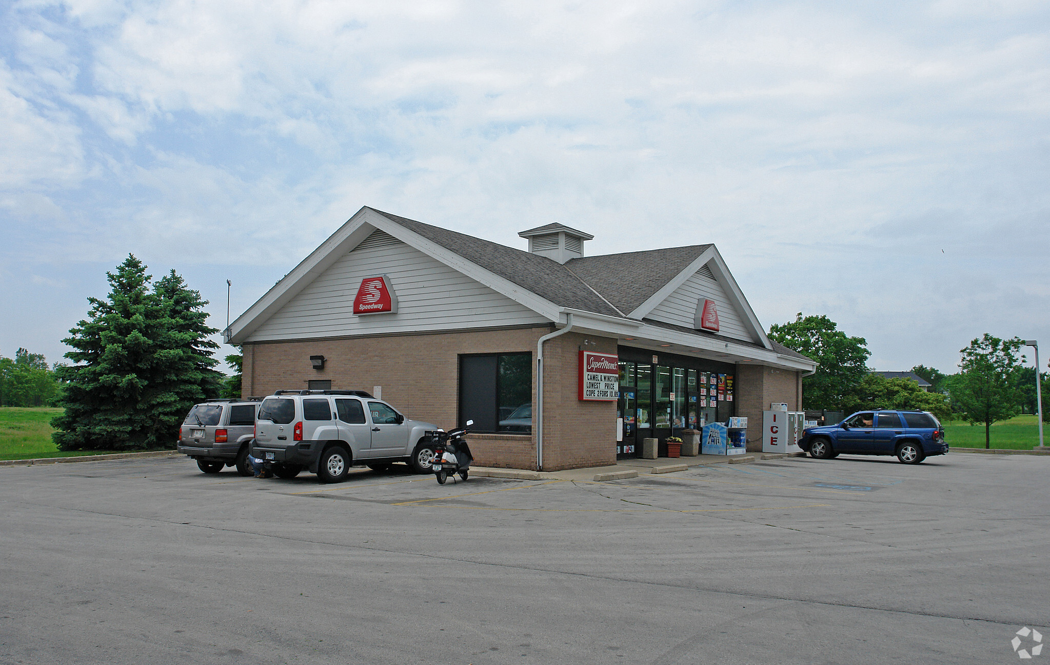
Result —
<instances>
[{"instance_id":1,"label":"grey shingled gable roof with white trim on the store","mask_svg":"<svg viewBox=\"0 0 1050 665\"><path fill-rule=\"evenodd\" d=\"M547 224L539 229L547 228L565 227ZM811 366L811 370L814 366L811 359L780 347L766 337L713 244L582 257L571 259L563 265L542 255L366 206L237 317L224 330L227 341L238 343L247 339L340 256L353 251L377 229L550 321L558 322L574 312L578 319L583 316L590 321L589 325L596 325L596 329L612 335L632 335L639 326L654 325L673 335L687 334L688 338L679 338L682 341L677 343L680 344L704 346L717 341L720 345L724 341L726 348L729 348L729 344L764 348L784 359L793 367L800 361ZM744 325L753 336L751 342L730 338L721 340L719 338L723 336L656 322L647 316L669 294L702 269L710 269L708 277L714 277L722 285L731 305L746 320Z\"/></svg>"}]
</instances>

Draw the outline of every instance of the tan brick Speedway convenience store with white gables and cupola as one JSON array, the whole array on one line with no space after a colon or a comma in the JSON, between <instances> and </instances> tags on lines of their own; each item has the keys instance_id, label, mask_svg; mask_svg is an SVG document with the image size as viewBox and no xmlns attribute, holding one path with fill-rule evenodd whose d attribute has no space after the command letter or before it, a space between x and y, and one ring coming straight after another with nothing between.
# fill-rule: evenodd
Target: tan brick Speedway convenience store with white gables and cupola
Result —
<instances>
[{"instance_id":1,"label":"tan brick Speedway convenience store with white gables and cupola","mask_svg":"<svg viewBox=\"0 0 1050 665\"><path fill-rule=\"evenodd\" d=\"M801 406L815 363L771 341L713 244L585 256L560 223L517 250L362 208L227 330L244 395L379 392L479 466L560 469Z\"/></svg>"}]
</instances>

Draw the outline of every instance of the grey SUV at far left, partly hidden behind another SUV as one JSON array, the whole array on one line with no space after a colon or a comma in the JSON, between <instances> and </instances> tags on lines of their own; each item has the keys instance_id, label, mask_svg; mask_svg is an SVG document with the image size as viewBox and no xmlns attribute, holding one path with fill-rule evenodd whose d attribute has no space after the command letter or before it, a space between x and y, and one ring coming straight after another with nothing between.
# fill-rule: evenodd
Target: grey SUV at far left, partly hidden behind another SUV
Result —
<instances>
[{"instance_id":1,"label":"grey SUV at far left, partly hidden behind another SUV","mask_svg":"<svg viewBox=\"0 0 1050 665\"><path fill-rule=\"evenodd\" d=\"M210 400L193 405L178 428L178 452L196 459L205 473L236 467L252 475L248 450L255 435L259 400Z\"/></svg>"}]
</instances>

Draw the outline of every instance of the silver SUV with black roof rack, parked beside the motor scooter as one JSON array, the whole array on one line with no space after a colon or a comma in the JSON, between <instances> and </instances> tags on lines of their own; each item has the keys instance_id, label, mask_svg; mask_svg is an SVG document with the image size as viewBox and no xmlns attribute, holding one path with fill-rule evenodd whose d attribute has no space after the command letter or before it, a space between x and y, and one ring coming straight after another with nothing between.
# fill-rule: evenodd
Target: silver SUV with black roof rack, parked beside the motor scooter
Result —
<instances>
[{"instance_id":1,"label":"silver SUV with black roof rack, parked beside the motor scooter","mask_svg":"<svg viewBox=\"0 0 1050 665\"><path fill-rule=\"evenodd\" d=\"M437 430L363 390L277 390L259 407L252 455L279 478L306 469L338 482L352 466L382 470L395 462L428 473Z\"/></svg>"}]
</instances>

